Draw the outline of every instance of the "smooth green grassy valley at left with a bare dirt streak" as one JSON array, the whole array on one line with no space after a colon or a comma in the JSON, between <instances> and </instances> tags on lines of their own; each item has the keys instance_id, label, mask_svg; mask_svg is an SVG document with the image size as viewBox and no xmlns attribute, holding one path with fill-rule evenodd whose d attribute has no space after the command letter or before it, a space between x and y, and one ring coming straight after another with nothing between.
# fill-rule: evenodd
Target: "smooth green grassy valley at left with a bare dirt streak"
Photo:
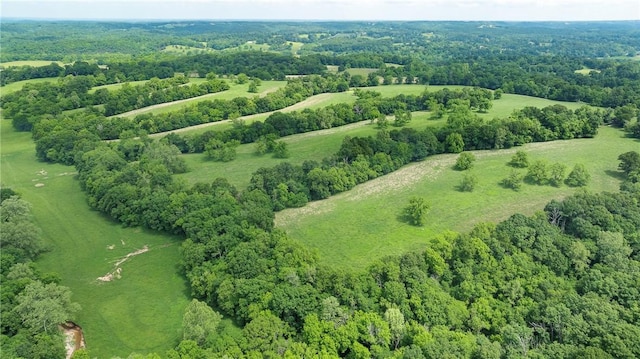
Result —
<instances>
[{"instance_id":1,"label":"smooth green grassy valley at left with a bare dirt streak","mask_svg":"<svg viewBox=\"0 0 640 359\"><path fill-rule=\"evenodd\" d=\"M75 319L84 329L92 357L164 353L175 346L189 300L177 268L178 240L122 228L90 210L73 167L38 162L29 133L15 132L8 120L0 125L2 184L32 204L42 237L52 248L38 266L59 273L82 306ZM41 170L47 174L39 174ZM45 186L38 188L36 183ZM107 249L110 245L114 249ZM150 251L124 263L122 279L96 280L111 271L118 258L144 245Z\"/></svg>"}]
</instances>

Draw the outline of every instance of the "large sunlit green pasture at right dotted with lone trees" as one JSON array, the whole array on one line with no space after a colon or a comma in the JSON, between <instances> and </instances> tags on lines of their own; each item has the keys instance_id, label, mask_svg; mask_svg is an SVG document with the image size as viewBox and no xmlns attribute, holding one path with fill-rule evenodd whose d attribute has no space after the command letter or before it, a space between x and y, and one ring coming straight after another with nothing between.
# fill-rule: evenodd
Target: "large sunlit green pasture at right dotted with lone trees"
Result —
<instances>
[{"instance_id":1,"label":"large sunlit green pasture at right dotted with lone trees","mask_svg":"<svg viewBox=\"0 0 640 359\"><path fill-rule=\"evenodd\" d=\"M448 230L468 231L477 223L495 223L513 213L530 215L551 199L578 191L530 184L519 192L503 188L499 183L512 170L507 162L516 150L525 150L531 160L560 162L569 169L584 164L592 176L587 190L599 192L618 190L617 157L639 145L622 131L604 127L593 139L476 151L478 160L471 171L479 181L471 193L456 189L463 177L463 172L452 169L457 155L433 156L327 200L279 212L276 225L317 251L325 264L360 269L385 255L420 250L430 238ZM399 219L412 196L424 197L431 205L422 227Z\"/></svg>"}]
</instances>

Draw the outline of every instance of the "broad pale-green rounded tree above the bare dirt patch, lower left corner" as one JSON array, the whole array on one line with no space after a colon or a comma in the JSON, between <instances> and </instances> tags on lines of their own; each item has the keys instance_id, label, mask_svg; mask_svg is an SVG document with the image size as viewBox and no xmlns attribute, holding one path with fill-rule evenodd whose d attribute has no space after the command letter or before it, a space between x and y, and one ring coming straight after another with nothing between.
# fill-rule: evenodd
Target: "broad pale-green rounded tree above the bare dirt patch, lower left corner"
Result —
<instances>
[{"instance_id":1,"label":"broad pale-green rounded tree above the bare dirt patch, lower left corner","mask_svg":"<svg viewBox=\"0 0 640 359\"><path fill-rule=\"evenodd\" d=\"M71 301L69 288L40 281L27 285L16 297L16 303L13 311L34 334L55 330L80 310L80 305Z\"/></svg>"}]
</instances>

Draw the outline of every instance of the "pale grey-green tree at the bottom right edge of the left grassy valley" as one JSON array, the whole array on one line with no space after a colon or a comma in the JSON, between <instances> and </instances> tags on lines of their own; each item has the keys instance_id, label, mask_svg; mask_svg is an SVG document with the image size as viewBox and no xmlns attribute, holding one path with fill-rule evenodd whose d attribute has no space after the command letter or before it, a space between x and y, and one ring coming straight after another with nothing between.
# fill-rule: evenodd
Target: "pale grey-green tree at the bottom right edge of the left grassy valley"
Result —
<instances>
[{"instance_id":1,"label":"pale grey-green tree at the bottom right edge of the left grassy valley","mask_svg":"<svg viewBox=\"0 0 640 359\"><path fill-rule=\"evenodd\" d=\"M197 299L193 299L182 317L182 339L204 345L218 332L222 315Z\"/></svg>"}]
</instances>

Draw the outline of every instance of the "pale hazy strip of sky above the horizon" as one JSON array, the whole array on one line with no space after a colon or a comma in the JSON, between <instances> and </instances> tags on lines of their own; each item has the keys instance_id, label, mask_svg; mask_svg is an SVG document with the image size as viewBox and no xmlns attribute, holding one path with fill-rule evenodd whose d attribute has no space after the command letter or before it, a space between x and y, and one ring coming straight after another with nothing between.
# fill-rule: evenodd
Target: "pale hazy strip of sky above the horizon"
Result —
<instances>
[{"instance_id":1,"label":"pale hazy strip of sky above the horizon","mask_svg":"<svg viewBox=\"0 0 640 359\"><path fill-rule=\"evenodd\" d=\"M640 0L0 0L3 18L640 20Z\"/></svg>"}]
</instances>

